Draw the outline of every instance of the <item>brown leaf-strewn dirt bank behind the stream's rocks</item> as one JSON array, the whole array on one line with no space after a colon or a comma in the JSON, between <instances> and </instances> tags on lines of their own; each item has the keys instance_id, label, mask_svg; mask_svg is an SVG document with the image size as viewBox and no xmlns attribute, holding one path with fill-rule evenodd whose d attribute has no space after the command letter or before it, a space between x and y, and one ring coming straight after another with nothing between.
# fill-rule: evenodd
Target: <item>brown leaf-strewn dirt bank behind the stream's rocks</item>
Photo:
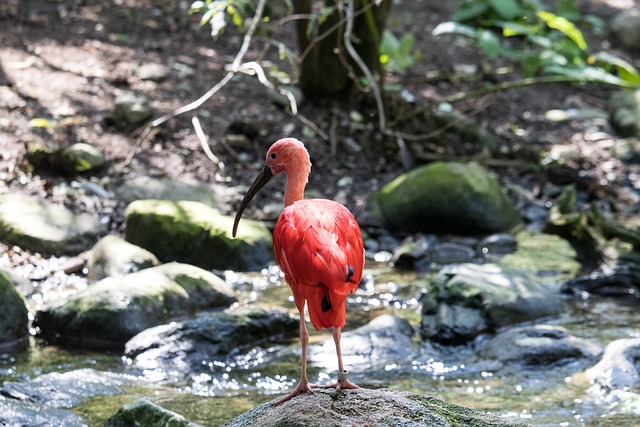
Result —
<instances>
[{"instance_id":1,"label":"brown leaf-strewn dirt bank behind the stream's rocks","mask_svg":"<svg viewBox=\"0 0 640 427\"><path fill-rule=\"evenodd\" d=\"M581 1L580 5L583 14L595 14L606 21L633 3ZM208 27L199 27L198 18L188 16L187 8L188 2L169 0L3 1L0 193L20 191L80 211L100 209L97 196L69 196L64 190L69 177L32 170L24 160L26 147L32 143L64 147L82 141L100 147L107 167L97 176L73 179L93 180L107 189L138 174L195 179L228 189L251 182L271 142L285 135L296 136L311 152L314 168L309 188L356 211L373 191L403 171L395 138L376 132L370 107L361 109L364 120L357 121L352 112L359 106L306 102L301 114L329 138L304 136L303 122L271 102L265 88L251 76L234 79L195 113L224 169L202 151L191 124L192 113L170 120L138 145L139 128L120 127L109 120L119 94L146 94L155 116L161 116L215 85L241 45L241 35L232 30L213 41ZM482 84L480 73L473 72L479 61L475 49L458 37L431 34L454 10L455 2L435 0L404 0L394 5L389 29L397 35L412 32L419 52L419 60L406 73L387 77L388 82L400 84L415 98L407 102L401 92L390 93L390 105L399 112L424 108L444 96ZM640 66L637 54L633 57L620 50L615 40L590 37L590 43L595 50L613 50ZM249 51L247 59L257 53ZM136 69L149 63L168 67L167 78L161 82L140 79ZM468 70L472 72L465 76ZM595 118L558 123L545 118L545 112L551 109L606 110L612 90L554 84L456 103L456 108L496 136L498 146L489 151L439 128L428 113L400 122L396 129L430 135L416 141L406 139L414 166L436 159L474 159L495 170L503 180L523 186L533 197L540 195L547 181L577 182L590 197L610 197L614 210L632 214L637 211L633 197L627 200L618 190L625 188L628 193L631 189L637 195L640 173L637 165L612 158L602 148L606 144L594 143L594 138L601 142L612 134L607 121ZM55 130L30 127L29 120L39 117L71 119L72 124ZM598 137L598 132L605 134ZM541 168L540 155L553 144L570 146L578 158L561 168ZM276 187L272 187L274 193L278 193ZM268 199L277 200L272 195ZM231 202L223 209L233 207ZM121 225L121 218L114 215L113 228Z\"/></svg>"}]
</instances>

